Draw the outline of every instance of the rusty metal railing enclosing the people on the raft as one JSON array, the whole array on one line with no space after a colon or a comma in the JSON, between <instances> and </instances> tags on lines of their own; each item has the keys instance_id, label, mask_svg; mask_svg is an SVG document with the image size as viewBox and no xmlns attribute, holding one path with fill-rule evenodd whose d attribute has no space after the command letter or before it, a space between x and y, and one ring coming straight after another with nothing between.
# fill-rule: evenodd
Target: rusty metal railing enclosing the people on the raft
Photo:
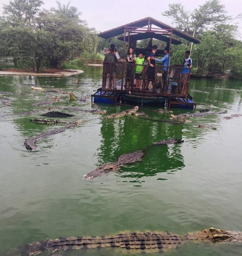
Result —
<instances>
[{"instance_id":1,"label":"rusty metal railing enclosing the people on the raft","mask_svg":"<svg viewBox=\"0 0 242 256\"><path fill-rule=\"evenodd\" d=\"M127 62L104 62L103 65L102 90L173 97L188 95L190 68L157 63L154 68ZM137 66L143 67L140 74L136 73Z\"/></svg>"}]
</instances>

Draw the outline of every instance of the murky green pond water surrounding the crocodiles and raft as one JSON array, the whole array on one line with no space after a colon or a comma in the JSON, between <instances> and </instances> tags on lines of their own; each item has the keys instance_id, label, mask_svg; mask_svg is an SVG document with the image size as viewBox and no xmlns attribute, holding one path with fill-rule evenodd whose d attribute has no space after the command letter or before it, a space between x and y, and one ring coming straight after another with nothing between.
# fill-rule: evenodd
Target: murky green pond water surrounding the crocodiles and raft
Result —
<instances>
[{"instance_id":1,"label":"murky green pond water surrounding the crocodiles and raft","mask_svg":"<svg viewBox=\"0 0 242 256\"><path fill-rule=\"evenodd\" d=\"M101 84L99 67L82 67L83 74L71 77L1 76L0 91L12 106L0 105L0 116L45 106L32 104L46 95L30 86L46 85L71 90L77 96L93 93ZM74 81L85 83L74 85ZM206 88L211 87L211 88ZM197 110L213 104L214 111L242 113L240 81L191 80L190 88L210 94L190 92ZM18 95L34 93L34 96ZM213 103L216 99L224 103ZM87 102L73 102L64 95L53 106L90 109ZM105 107L108 113L127 107ZM64 111L64 109L63 109ZM65 111L64 111L65 112ZM71 112L71 111L68 111ZM148 114L168 119L165 114ZM174 110L175 114L192 112ZM66 236L110 235L122 231L165 231L184 235L204 228L242 231L242 117L225 120L225 115L192 118L182 125L157 123L141 117L125 116L102 120L99 115L73 112L83 123L64 133L41 139L38 151L26 151L26 138L57 126L30 123L39 115L9 115L0 121L0 255L26 243ZM64 118L67 120L67 118ZM217 126L198 129L197 124ZM60 127L60 126L58 126ZM82 176L124 153L143 149L161 139L184 139L182 145L153 146L141 162L83 181ZM123 249L87 249L58 252L63 256L214 256L242 255L242 244L187 243L167 252L131 252ZM51 255L50 253L42 255Z\"/></svg>"}]
</instances>

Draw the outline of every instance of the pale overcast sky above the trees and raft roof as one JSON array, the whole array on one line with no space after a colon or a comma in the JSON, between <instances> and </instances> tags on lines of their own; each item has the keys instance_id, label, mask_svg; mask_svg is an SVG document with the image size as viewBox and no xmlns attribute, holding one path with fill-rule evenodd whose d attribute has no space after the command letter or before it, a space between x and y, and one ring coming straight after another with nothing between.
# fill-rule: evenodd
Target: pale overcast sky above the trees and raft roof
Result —
<instances>
[{"instance_id":1,"label":"pale overcast sky above the trees and raft roof","mask_svg":"<svg viewBox=\"0 0 242 256\"><path fill-rule=\"evenodd\" d=\"M43 0L44 8L56 7L53 0ZM67 4L70 0L60 0L61 4ZM152 17L168 25L171 21L162 16L162 12L168 9L169 3L182 3L187 10L193 10L206 0L71 0L70 5L76 6L82 13L82 19L86 20L89 27L95 27L96 30L106 31L121 25ZM8 4L9 0L0 0L0 8L2 4ZM234 18L242 12L242 0L222 0L228 14ZM242 20L238 20L240 32L242 33Z\"/></svg>"}]
</instances>

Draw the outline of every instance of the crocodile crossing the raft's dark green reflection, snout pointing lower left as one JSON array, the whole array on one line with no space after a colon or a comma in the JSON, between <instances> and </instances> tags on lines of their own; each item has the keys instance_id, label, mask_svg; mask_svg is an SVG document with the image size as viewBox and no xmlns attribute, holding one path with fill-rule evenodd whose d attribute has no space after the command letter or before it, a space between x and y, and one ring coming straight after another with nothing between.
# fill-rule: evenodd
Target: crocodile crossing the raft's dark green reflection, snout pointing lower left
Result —
<instances>
[{"instance_id":1,"label":"crocodile crossing the raft's dark green reflection, snout pointing lower left","mask_svg":"<svg viewBox=\"0 0 242 256\"><path fill-rule=\"evenodd\" d=\"M156 142L152 145L175 144L175 143L181 143L181 142L183 141L178 139L168 139L168 140ZM115 163L108 163L108 164L99 166L96 170L85 174L82 178L85 180L90 180L90 179L105 175L106 173L109 173L109 172L117 172L120 169L120 167L124 164L131 164L131 163L136 163L137 161L141 161L141 158L144 156L144 150L145 149L120 155L120 157L118 157L118 160Z\"/></svg>"}]
</instances>

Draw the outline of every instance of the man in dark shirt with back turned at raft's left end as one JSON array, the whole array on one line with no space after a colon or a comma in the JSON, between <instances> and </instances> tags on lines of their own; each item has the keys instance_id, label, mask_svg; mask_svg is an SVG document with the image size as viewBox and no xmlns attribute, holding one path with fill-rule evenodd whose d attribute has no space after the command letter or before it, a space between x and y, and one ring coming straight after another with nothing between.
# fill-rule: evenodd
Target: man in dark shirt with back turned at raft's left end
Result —
<instances>
[{"instance_id":1,"label":"man in dark shirt with back turned at raft's left end","mask_svg":"<svg viewBox=\"0 0 242 256\"><path fill-rule=\"evenodd\" d=\"M109 90L112 89L112 83L113 83L114 90L117 90L117 87L116 87L117 66L115 62L118 62L118 60L115 54L111 53L110 48L107 48L105 52L106 52L106 56L104 58L104 62L109 62L109 63L104 63L104 74L108 77L108 80L109 80L108 89Z\"/></svg>"}]
</instances>

